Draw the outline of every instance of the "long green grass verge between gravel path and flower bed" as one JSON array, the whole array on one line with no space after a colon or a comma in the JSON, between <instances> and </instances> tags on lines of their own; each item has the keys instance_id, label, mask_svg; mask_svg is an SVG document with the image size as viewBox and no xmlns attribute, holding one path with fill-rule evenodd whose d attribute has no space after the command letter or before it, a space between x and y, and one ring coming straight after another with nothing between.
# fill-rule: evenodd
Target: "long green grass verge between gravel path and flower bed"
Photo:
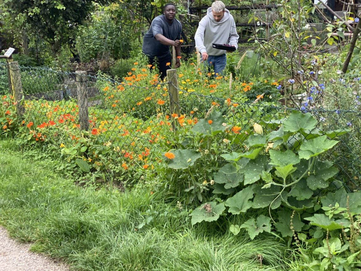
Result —
<instances>
[{"instance_id":1,"label":"long green grass verge between gravel path and flower bed","mask_svg":"<svg viewBox=\"0 0 361 271\"><path fill-rule=\"evenodd\" d=\"M248 218L192 227L186 207L142 185L82 188L53 171L59 161L24 160L11 141L0 141L0 151L0 224L74 270L290 270L274 236L251 241L228 231ZM153 221L135 230L147 210Z\"/></svg>"}]
</instances>

